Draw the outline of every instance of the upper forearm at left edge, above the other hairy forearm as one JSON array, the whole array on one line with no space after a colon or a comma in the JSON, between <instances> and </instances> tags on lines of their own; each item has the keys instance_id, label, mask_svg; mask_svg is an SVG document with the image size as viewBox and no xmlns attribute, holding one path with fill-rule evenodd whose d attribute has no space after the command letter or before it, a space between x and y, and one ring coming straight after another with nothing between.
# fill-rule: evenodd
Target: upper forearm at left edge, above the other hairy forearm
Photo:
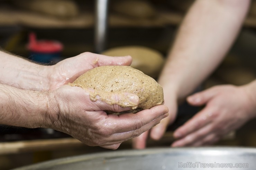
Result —
<instances>
[{"instance_id":1,"label":"upper forearm at left edge, above the other hairy forearm","mask_svg":"<svg viewBox=\"0 0 256 170\"><path fill-rule=\"evenodd\" d=\"M0 81L22 89L49 89L48 66L0 51Z\"/></svg>"}]
</instances>

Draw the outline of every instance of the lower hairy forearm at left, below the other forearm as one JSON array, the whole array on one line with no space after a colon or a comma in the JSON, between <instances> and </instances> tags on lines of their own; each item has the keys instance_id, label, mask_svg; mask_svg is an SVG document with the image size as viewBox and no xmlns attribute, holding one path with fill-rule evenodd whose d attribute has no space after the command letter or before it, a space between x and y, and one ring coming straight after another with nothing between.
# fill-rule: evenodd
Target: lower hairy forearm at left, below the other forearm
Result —
<instances>
[{"instance_id":1,"label":"lower hairy forearm at left, below the other forearm","mask_svg":"<svg viewBox=\"0 0 256 170\"><path fill-rule=\"evenodd\" d=\"M0 84L0 108L0 124L44 127L47 121L47 92Z\"/></svg>"}]
</instances>

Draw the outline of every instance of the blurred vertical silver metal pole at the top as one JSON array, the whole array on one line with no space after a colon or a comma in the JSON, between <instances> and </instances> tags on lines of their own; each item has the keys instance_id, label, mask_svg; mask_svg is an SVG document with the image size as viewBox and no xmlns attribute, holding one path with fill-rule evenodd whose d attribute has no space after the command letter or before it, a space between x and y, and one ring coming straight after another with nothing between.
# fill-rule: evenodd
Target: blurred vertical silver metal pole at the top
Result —
<instances>
[{"instance_id":1,"label":"blurred vertical silver metal pole at the top","mask_svg":"<svg viewBox=\"0 0 256 170\"><path fill-rule=\"evenodd\" d=\"M108 0L96 0L95 9L95 52L100 53L106 48L108 24Z\"/></svg>"}]
</instances>

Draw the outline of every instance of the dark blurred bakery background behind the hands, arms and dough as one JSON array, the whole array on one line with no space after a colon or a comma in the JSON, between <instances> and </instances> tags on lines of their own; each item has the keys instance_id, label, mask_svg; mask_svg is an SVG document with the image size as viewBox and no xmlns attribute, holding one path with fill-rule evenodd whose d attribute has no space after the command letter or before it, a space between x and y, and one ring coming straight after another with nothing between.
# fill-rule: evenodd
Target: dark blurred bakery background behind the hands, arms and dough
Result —
<instances>
[{"instance_id":1,"label":"dark blurred bakery background behind the hands, arms and dough","mask_svg":"<svg viewBox=\"0 0 256 170\"><path fill-rule=\"evenodd\" d=\"M138 46L157 51L164 62L177 28L192 3L193 0L110 0L104 46L97 49L96 0L0 0L0 48L35 62L54 64L86 51L99 53L115 47ZM235 44L199 90L217 84L243 85L256 78L255 30L256 1L252 1ZM161 67L156 67L159 73ZM184 103L164 138L149 140L148 147L170 146L172 131L199 109ZM216 145L255 147L255 129L255 120L252 120ZM122 143L121 149L131 149L131 141ZM1 170L99 151L107 150L85 146L52 129L0 125Z\"/></svg>"}]
</instances>

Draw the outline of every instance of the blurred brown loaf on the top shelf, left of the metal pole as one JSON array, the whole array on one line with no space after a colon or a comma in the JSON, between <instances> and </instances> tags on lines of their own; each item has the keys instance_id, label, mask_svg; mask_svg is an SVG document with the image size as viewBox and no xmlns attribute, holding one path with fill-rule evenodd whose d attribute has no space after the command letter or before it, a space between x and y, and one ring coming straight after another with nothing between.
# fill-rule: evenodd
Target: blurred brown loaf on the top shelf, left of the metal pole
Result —
<instances>
[{"instance_id":1,"label":"blurred brown loaf on the top shelf, left of the metal pole","mask_svg":"<svg viewBox=\"0 0 256 170\"><path fill-rule=\"evenodd\" d=\"M15 4L23 9L58 18L72 18L79 13L72 0L16 0Z\"/></svg>"}]
</instances>

